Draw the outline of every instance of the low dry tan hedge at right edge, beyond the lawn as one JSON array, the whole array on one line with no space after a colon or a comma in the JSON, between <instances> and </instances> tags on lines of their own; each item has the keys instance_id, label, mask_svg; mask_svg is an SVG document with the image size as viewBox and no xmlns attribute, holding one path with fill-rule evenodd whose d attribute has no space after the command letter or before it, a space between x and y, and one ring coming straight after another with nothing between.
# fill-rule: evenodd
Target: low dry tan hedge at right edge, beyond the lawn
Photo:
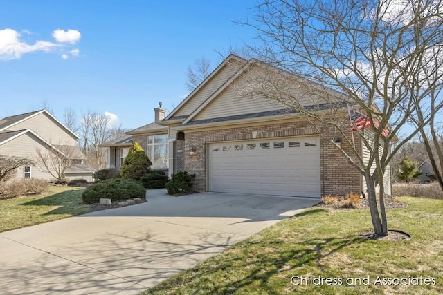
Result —
<instances>
[{"instance_id":1,"label":"low dry tan hedge at right edge, beyond the lawn","mask_svg":"<svg viewBox=\"0 0 443 295\"><path fill-rule=\"evenodd\" d=\"M443 200L443 191L437 182L429 184L398 184L392 186L393 196L422 197Z\"/></svg>"}]
</instances>

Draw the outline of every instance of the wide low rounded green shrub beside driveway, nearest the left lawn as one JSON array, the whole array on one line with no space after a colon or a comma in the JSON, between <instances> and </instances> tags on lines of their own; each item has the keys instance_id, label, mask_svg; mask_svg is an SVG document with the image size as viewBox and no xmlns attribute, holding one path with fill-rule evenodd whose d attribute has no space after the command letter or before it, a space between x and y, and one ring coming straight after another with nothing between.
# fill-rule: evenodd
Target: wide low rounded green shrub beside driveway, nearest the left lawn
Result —
<instances>
[{"instance_id":1,"label":"wide low rounded green shrub beside driveway, nearest the left lawn","mask_svg":"<svg viewBox=\"0 0 443 295\"><path fill-rule=\"evenodd\" d=\"M146 190L135 180L113 178L87 187L82 193L82 200L87 204L99 202L100 198L109 198L112 201L132 198L145 198Z\"/></svg>"}]
</instances>

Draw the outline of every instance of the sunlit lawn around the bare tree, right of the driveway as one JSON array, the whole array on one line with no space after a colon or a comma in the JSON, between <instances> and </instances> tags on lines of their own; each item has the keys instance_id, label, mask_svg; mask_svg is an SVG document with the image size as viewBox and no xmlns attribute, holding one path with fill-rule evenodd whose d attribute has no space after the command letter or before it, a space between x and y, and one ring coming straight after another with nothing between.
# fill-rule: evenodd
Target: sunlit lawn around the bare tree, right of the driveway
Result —
<instances>
[{"instance_id":1,"label":"sunlit lawn around the bare tree, right of the driveway","mask_svg":"<svg viewBox=\"0 0 443 295\"><path fill-rule=\"evenodd\" d=\"M390 229L411 240L366 240L358 233L372 229L368 211L314 207L143 294L443 294L443 200L399 200L408 207L388 211ZM341 285L292 285L293 276ZM388 278L406 285L381 285Z\"/></svg>"}]
</instances>

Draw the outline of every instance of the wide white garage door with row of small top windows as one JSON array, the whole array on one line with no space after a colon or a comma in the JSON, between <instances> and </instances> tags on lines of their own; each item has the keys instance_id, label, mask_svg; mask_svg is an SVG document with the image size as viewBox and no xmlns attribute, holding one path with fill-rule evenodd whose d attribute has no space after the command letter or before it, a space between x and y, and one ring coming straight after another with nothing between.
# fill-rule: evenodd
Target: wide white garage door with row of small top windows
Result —
<instances>
[{"instance_id":1,"label":"wide white garage door with row of small top windows","mask_svg":"<svg viewBox=\"0 0 443 295\"><path fill-rule=\"evenodd\" d=\"M209 144L209 190L320 197L320 140L294 137Z\"/></svg>"}]
</instances>

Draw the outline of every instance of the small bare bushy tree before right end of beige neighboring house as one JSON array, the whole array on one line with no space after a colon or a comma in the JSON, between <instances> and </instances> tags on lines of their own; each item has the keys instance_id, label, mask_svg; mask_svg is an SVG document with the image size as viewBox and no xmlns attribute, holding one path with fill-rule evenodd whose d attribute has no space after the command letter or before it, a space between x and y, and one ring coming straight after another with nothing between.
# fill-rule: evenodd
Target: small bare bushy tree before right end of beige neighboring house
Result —
<instances>
[{"instance_id":1,"label":"small bare bushy tree before right end of beige neighboring house","mask_svg":"<svg viewBox=\"0 0 443 295\"><path fill-rule=\"evenodd\" d=\"M46 146L46 149L36 149L35 163L39 169L45 171L53 178L62 180L66 170L79 162L82 158L77 146L57 145Z\"/></svg>"}]
</instances>

